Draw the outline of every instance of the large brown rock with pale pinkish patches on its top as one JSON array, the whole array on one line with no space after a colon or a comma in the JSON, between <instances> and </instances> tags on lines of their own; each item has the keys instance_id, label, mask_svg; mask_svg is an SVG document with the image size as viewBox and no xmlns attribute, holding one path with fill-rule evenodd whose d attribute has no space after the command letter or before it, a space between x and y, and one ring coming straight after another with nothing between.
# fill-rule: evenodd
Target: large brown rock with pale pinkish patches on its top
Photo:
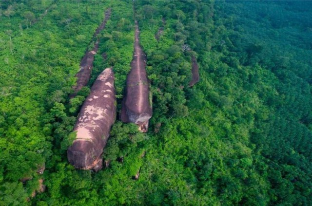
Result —
<instances>
[{"instance_id":1,"label":"large brown rock with pale pinkish patches on its top","mask_svg":"<svg viewBox=\"0 0 312 206\"><path fill-rule=\"evenodd\" d=\"M76 139L67 150L68 161L77 169L102 168L103 148L116 119L114 73L105 69L83 103L74 131Z\"/></svg>"}]
</instances>

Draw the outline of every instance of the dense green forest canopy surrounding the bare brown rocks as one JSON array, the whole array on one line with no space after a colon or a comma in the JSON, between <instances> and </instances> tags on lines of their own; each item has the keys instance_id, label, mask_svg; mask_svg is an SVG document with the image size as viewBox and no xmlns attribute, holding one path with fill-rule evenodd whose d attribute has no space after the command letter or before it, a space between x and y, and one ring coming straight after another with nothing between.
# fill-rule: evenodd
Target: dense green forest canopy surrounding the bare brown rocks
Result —
<instances>
[{"instance_id":1,"label":"dense green forest canopy surrounding the bare brown rocks","mask_svg":"<svg viewBox=\"0 0 312 206\"><path fill-rule=\"evenodd\" d=\"M69 102L109 7L89 85ZM303 1L1 1L0 205L311 205L311 17ZM120 110L135 19L149 132L117 120L109 167L76 170L66 150L79 107L113 66Z\"/></svg>"}]
</instances>

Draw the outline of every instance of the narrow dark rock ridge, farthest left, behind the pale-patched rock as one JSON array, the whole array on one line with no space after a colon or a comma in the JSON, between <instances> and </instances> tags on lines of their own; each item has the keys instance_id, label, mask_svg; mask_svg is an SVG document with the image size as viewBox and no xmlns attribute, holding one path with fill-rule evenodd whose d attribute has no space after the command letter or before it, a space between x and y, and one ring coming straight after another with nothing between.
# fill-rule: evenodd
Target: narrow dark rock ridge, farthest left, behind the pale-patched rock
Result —
<instances>
[{"instance_id":1,"label":"narrow dark rock ridge, farthest left, behind the pale-patched rock","mask_svg":"<svg viewBox=\"0 0 312 206\"><path fill-rule=\"evenodd\" d=\"M96 32L93 35L93 38L97 37L97 35L105 28L107 20L110 18L111 15L111 8L108 8L105 11L105 18L103 22L98 26ZM98 51L98 44L99 39L95 42L94 48L91 51L86 52L83 58L80 61L80 70L76 74L77 82L76 85L73 87L74 93L70 95L70 98L74 98L77 93L81 90L82 87L86 86L90 80L92 68L93 68L93 61L94 56L97 54Z\"/></svg>"}]
</instances>

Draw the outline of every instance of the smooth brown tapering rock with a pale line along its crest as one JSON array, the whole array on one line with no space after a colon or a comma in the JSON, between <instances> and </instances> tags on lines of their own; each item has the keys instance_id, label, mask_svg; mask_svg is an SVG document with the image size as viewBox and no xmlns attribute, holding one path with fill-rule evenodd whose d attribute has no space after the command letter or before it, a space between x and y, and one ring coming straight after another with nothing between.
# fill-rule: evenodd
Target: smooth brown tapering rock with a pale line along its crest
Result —
<instances>
[{"instance_id":1,"label":"smooth brown tapering rock with a pale line along its crest","mask_svg":"<svg viewBox=\"0 0 312 206\"><path fill-rule=\"evenodd\" d=\"M146 74L146 56L139 45L139 30L136 21L135 50L131 62L131 71L127 76L126 95L123 99L121 121L133 122L139 131L148 130L148 121L152 117L149 101L149 82Z\"/></svg>"}]
</instances>

